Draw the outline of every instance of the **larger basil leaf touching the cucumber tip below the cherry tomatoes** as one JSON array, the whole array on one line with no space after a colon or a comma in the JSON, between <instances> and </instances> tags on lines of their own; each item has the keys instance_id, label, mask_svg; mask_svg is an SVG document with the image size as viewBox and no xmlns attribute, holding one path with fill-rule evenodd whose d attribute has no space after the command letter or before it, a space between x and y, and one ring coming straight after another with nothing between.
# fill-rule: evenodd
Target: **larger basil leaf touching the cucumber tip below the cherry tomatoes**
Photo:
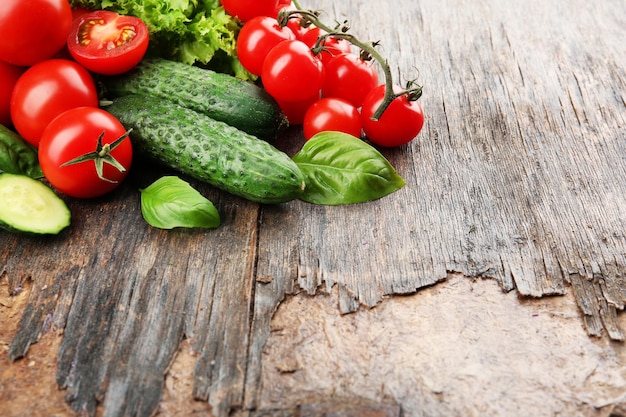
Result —
<instances>
[{"instance_id":1,"label":"larger basil leaf touching the cucumber tip below the cherry tomatoes","mask_svg":"<svg viewBox=\"0 0 626 417\"><path fill-rule=\"evenodd\" d=\"M340 132L321 132L293 157L305 176L300 197L313 204L354 204L384 197L405 185L374 147Z\"/></svg>"}]
</instances>

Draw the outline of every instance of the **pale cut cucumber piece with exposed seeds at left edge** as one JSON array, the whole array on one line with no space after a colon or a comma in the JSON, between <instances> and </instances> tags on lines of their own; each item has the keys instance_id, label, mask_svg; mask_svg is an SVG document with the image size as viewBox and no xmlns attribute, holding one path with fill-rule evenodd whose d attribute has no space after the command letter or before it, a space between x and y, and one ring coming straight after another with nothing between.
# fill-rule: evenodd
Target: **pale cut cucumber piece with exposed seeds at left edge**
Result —
<instances>
[{"instance_id":1,"label":"pale cut cucumber piece with exposed seeds at left edge","mask_svg":"<svg viewBox=\"0 0 626 417\"><path fill-rule=\"evenodd\" d=\"M11 232L57 234L70 210L44 183L26 175L0 174L0 227Z\"/></svg>"}]
</instances>

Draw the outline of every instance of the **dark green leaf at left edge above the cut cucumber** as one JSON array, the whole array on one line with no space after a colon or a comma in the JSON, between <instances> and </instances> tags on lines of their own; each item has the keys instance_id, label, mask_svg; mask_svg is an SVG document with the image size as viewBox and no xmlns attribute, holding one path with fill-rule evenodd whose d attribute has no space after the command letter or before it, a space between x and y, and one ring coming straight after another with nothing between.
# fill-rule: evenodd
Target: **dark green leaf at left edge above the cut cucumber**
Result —
<instances>
[{"instance_id":1,"label":"dark green leaf at left edge above the cut cucumber","mask_svg":"<svg viewBox=\"0 0 626 417\"><path fill-rule=\"evenodd\" d=\"M3 125L0 125L0 172L43 177L37 149Z\"/></svg>"}]
</instances>

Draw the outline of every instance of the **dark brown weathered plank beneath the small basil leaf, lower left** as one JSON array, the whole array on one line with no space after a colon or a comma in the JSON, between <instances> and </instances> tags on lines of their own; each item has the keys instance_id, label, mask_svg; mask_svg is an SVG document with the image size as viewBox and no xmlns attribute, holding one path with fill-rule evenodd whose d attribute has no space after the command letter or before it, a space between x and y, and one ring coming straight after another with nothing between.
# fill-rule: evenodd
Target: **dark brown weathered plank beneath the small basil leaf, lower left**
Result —
<instances>
[{"instance_id":1,"label":"dark brown weathered plank beneath the small basil leaf, lower left","mask_svg":"<svg viewBox=\"0 0 626 417\"><path fill-rule=\"evenodd\" d=\"M220 401L224 408L241 402L232 393L243 392L236 387L243 385L237 368L247 355L241 336L248 334L258 206L196 186L224 208L220 229L150 229L137 210L136 190L128 187L99 210L102 219L90 219L101 221L99 227L77 226L86 221L82 216L98 212L98 203L71 201L72 230L47 246L6 236L7 244L28 254L7 258L9 274L29 271L20 259L49 263L30 269L33 299L11 356L24 355L52 324L64 329L57 380L76 410L93 415L102 402L106 416L152 414L185 335L201 352L198 397L211 394L216 409ZM86 249L80 242L95 242L93 252L76 253Z\"/></svg>"}]
</instances>

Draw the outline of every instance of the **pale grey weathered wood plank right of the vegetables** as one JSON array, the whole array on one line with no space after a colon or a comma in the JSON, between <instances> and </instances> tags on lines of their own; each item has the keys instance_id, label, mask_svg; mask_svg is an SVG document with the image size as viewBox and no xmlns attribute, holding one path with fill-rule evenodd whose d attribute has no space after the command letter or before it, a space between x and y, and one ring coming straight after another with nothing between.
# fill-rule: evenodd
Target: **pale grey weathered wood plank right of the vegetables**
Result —
<instances>
[{"instance_id":1,"label":"pale grey weathered wood plank right of the vegetables","mask_svg":"<svg viewBox=\"0 0 626 417\"><path fill-rule=\"evenodd\" d=\"M349 17L359 10L354 30L382 38L402 74L418 68L429 116L410 149L386 152L408 179L404 190L357 208L297 211L304 230L285 252L300 253L300 287L343 284L372 306L445 270L494 276L529 296L563 293L560 268L589 268L600 251L623 270L624 181L615 178L626 152L624 43L611 36L620 21L609 6L533 3L535 19L489 1L402 3L401 12L367 2L315 6ZM538 34L541 42L529 39ZM271 230L274 240L293 235ZM364 283L365 271L375 285ZM622 306L622 294L612 295Z\"/></svg>"}]
</instances>

